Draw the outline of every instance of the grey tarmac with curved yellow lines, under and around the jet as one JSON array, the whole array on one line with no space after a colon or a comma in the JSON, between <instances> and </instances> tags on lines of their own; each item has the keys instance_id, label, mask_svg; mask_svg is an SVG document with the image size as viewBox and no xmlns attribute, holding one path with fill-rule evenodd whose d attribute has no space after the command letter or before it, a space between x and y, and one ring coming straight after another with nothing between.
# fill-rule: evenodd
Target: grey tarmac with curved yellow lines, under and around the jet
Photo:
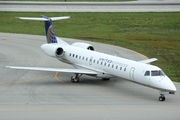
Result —
<instances>
[{"instance_id":1,"label":"grey tarmac with curved yellow lines, under and around the jet","mask_svg":"<svg viewBox=\"0 0 180 120\"><path fill-rule=\"evenodd\" d=\"M96 51L143 60L135 51L86 42ZM180 84L175 95L160 102L159 91L121 78L110 81L83 75L71 83L72 74L8 69L5 66L73 68L40 49L45 36L0 33L0 118L2 120L156 120L180 119Z\"/></svg>"}]
</instances>

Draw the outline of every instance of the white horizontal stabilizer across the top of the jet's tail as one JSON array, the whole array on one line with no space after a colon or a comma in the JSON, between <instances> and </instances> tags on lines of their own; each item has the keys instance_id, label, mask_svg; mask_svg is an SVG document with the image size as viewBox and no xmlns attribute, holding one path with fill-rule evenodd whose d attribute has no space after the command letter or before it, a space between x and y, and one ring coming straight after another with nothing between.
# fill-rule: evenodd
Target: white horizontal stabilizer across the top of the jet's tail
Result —
<instances>
[{"instance_id":1,"label":"white horizontal stabilizer across the top of the jet's tail","mask_svg":"<svg viewBox=\"0 0 180 120\"><path fill-rule=\"evenodd\" d=\"M63 19L68 19L70 18L70 16L64 16L64 17L52 17L52 18L33 18L33 17L16 17L19 19L23 19L23 20L39 20L39 21L49 21L49 19L51 19L52 21L55 20L63 20Z\"/></svg>"}]
</instances>

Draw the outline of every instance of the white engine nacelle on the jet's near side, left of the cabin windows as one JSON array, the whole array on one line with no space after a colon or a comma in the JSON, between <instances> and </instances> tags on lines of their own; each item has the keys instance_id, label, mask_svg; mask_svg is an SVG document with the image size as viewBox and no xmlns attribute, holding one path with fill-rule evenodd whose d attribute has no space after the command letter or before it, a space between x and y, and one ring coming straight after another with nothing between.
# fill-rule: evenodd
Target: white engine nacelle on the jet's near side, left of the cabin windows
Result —
<instances>
[{"instance_id":1,"label":"white engine nacelle on the jet's near side, left of the cabin windows","mask_svg":"<svg viewBox=\"0 0 180 120\"><path fill-rule=\"evenodd\" d=\"M55 44L43 44L41 49L51 57L62 57L65 53L61 46Z\"/></svg>"}]
</instances>

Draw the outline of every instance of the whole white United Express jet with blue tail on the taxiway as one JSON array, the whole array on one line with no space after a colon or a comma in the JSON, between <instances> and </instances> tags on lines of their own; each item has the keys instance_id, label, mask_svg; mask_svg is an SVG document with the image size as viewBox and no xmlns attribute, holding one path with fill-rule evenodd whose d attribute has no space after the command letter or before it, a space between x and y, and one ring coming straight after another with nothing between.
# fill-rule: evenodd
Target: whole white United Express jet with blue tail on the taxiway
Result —
<instances>
[{"instance_id":1,"label":"whole white United Express jet with blue tail on the taxiway","mask_svg":"<svg viewBox=\"0 0 180 120\"><path fill-rule=\"evenodd\" d=\"M74 66L75 69L6 66L7 68L74 73L71 77L74 83L79 82L82 75L102 78L102 80L123 78L159 90L159 101L165 101L165 95L175 94L177 90L170 78L159 67L149 64L156 61L156 58L133 61L94 51L94 47L87 43L75 42L70 45L58 38L52 21L68 19L70 16L48 18L41 15L41 18L17 18L44 21L47 43L41 45L42 51L50 57Z\"/></svg>"}]
</instances>

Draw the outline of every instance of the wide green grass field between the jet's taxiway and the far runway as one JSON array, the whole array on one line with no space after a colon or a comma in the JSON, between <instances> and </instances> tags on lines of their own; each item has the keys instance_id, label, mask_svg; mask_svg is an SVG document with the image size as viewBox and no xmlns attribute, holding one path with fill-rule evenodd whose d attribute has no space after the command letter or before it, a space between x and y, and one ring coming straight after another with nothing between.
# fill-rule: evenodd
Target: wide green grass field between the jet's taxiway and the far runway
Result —
<instances>
[{"instance_id":1,"label":"wide green grass field between the jet's taxiway and the far runway","mask_svg":"<svg viewBox=\"0 0 180 120\"><path fill-rule=\"evenodd\" d=\"M59 37L77 38L126 47L149 58L180 82L180 12L168 13L38 13L0 12L0 32L45 35L40 21L15 17L71 16L54 21Z\"/></svg>"}]
</instances>

